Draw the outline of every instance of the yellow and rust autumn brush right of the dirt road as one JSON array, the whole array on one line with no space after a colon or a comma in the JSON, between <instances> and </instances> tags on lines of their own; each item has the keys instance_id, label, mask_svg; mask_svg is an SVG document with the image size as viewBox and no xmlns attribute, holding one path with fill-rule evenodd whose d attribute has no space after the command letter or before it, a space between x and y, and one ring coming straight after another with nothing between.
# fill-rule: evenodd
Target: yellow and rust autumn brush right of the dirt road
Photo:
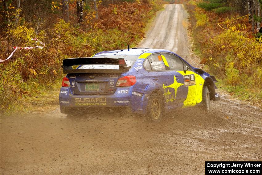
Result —
<instances>
[{"instance_id":1,"label":"yellow and rust autumn brush right of the dirt road","mask_svg":"<svg viewBox=\"0 0 262 175\"><path fill-rule=\"evenodd\" d=\"M262 98L262 39L254 38L247 16L237 12L218 14L196 3L190 12L195 52L205 69L245 98ZM220 23L220 26L218 26Z\"/></svg>"}]
</instances>

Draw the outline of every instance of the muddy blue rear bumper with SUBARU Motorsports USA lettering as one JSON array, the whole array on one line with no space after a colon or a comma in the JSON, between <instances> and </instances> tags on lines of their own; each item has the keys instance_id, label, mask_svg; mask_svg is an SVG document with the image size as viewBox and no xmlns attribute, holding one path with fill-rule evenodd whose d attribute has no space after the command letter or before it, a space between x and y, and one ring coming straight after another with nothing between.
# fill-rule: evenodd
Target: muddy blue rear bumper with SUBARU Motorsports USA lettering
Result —
<instances>
[{"instance_id":1,"label":"muddy blue rear bumper with SUBARU Motorsports USA lettering","mask_svg":"<svg viewBox=\"0 0 262 175\"><path fill-rule=\"evenodd\" d=\"M132 89L132 87L117 88L115 93L110 95L76 95L72 94L69 87L61 87L59 94L61 113L66 113L68 109L91 109L99 107L130 107L132 111L143 113L144 106L142 104L148 99L142 94L132 94Z\"/></svg>"}]
</instances>

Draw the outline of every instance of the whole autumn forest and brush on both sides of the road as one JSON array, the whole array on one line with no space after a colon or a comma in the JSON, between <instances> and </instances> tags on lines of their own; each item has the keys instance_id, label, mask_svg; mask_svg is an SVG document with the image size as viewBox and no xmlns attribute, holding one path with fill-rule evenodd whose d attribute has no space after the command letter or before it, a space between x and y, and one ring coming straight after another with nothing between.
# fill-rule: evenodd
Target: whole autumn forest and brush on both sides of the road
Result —
<instances>
[{"instance_id":1,"label":"whole autumn forest and brush on both sides of the road","mask_svg":"<svg viewBox=\"0 0 262 175\"><path fill-rule=\"evenodd\" d=\"M262 0L0 0L0 59L13 46L33 46L31 38L45 43L0 63L0 110L55 103L64 58L135 47L162 5L178 1L189 11L204 69L229 92L261 102L261 41L249 38L261 27Z\"/></svg>"}]
</instances>

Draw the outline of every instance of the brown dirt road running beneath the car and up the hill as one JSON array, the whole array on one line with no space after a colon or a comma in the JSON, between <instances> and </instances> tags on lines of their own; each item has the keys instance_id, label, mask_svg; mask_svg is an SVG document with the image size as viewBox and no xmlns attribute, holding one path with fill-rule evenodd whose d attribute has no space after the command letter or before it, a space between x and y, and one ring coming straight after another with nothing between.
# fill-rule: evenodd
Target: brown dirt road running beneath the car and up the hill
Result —
<instances>
[{"instance_id":1,"label":"brown dirt road running beneath the car and up the hill","mask_svg":"<svg viewBox=\"0 0 262 175\"><path fill-rule=\"evenodd\" d=\"M183 23L182 5L167 5L141 46L190 60ZM261 109L221 95L210 114L171 111L157 124L109 110L66 118L58 105L1 116L0 174L203 175L207 160L262 160Z\"/></svg>"}]
</instances>

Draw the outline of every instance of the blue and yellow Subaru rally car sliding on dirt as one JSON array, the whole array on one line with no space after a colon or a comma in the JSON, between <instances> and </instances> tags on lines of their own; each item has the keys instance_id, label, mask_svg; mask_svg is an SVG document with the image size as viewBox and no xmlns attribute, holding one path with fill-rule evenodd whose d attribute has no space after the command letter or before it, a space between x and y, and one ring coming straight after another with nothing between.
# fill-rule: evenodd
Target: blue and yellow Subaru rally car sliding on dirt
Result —
<instances>
[{"instance_id":1,"label":"blue and yellow Subaru rally car sliding on dirt","mask_svg":"<svg viewBox=\"0 0 262 175\"><path fill-rule=\"evenodd\" d=\"M63 60L61 113L77 108L129 107L160 120L173 108L218 101L215 77L168 50L132 48L104 51L90 58Z\"/></svg>"}]
</instances>

